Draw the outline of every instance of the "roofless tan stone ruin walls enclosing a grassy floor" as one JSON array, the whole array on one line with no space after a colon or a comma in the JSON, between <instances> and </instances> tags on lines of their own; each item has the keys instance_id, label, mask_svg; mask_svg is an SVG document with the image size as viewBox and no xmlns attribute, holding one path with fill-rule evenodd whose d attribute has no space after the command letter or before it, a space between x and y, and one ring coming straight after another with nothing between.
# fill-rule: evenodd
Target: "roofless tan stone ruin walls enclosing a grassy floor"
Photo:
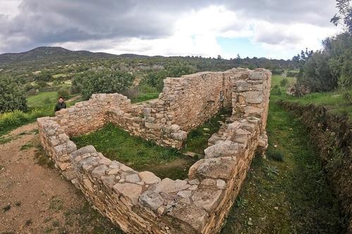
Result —
<instances>
[{"instance_id":1,"label":"roofless tan stone ruin walls enclosing a grassy floor","mask_svg":"<svg viewBox=\"0 0 352 234\"><path fill-rule=\"evenodd\" d=\"M166 78L158 99L133 105L118 93L94 94L55 117L37 119L39 136L62 175L126 233L218 233L253 155L268 145L270 79L268 70L240 68ZM70 141L111 122L180 149L191 129L225 107L232 108L231 121L210 137L205 157L184 180L135 171L92 145L77 149Z\"/></svg>"}]
</instances>

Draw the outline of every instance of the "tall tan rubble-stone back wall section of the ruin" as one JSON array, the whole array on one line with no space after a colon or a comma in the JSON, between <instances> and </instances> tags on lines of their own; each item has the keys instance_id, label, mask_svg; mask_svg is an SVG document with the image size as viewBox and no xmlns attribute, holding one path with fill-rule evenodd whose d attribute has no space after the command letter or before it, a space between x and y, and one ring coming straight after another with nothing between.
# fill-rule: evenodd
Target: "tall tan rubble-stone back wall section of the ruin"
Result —
<instances>
[{"instance_id":1,"label":"tall tan rubble-stone back wall section of the ruin","mask_svg":"<svg viewBox=\"0 0 352 234\"><path fill-rule=\"evenodd\" d=\"M164 80L162 105L151 117L156 122L178 124L184 131L194 129L215 115L224 105L230 106L230 76L225 72L199 72Z\"/></svg>"}]
</instances>

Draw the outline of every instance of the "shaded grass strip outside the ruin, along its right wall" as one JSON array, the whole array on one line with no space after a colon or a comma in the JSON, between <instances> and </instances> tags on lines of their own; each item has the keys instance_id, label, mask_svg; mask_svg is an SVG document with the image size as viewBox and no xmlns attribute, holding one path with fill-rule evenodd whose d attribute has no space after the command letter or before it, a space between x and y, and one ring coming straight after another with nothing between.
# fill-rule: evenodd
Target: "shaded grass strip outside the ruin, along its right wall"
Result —
<instances>
[{"instance_id":1,"label":"shaded grass strip outside the ruin, along its right wall","mask_svg":"<svg viewBox=\"0 0 352 234\"><path fill-rule=\"evenodd\" d=\"M270 103L268 159L253 159L222 234L341 233L337 199L306 129Z\"/></svg>"}]
</instances>

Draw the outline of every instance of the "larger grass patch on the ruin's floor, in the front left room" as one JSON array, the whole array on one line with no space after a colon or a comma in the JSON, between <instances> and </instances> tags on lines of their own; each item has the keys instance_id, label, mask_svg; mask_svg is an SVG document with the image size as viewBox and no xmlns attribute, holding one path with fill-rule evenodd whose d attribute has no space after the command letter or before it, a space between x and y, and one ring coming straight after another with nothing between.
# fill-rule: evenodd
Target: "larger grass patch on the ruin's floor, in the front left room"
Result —
<instances>
[{"instance_id":1,"label":"larger grass patch on the ruin's floor, in the front left room","mask_svg":"<svg viewBox=\"0 0 352 234\"><path fill-rule=\"evenodd\" d=\"M72 137L71 140L77 144L77 148L93 145L111 160L122 162L138 171L152 171L161 178L186 178L189 167L198 160L172 148L130 136L113 124L107 124L92 134Z\"/></svg>"}]
</instances>

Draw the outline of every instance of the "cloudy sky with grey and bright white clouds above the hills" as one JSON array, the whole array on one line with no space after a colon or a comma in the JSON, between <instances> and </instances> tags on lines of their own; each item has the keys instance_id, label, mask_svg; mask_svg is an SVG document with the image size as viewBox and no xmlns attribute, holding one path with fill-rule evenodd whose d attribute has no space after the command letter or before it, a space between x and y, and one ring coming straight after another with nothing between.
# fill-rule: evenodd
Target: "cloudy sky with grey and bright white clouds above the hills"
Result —
<instances>
[{"instance_id":1,"label":"cloudy sky with grey and bright white clouds above the hills","mask_svg":"<svg viewBox=\"0 0 352 234\"><path fill-rule=\"evenodd\" d=\"M291 58L338 32L334 0L0 0L0 53L37 46Z\"/></svg>"}]
</instances>

